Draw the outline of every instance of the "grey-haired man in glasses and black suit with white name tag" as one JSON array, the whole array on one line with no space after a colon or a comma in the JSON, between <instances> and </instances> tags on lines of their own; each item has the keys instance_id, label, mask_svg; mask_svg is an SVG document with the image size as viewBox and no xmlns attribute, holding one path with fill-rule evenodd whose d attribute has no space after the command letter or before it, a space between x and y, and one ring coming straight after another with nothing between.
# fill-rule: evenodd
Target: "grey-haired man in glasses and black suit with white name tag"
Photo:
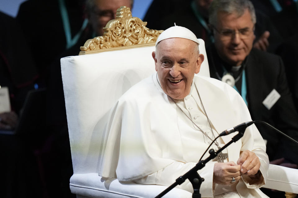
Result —
<instances>
[{"instance_id":1,"label":"grey-haired man in glasses and black suit with white name tag","mask_svg":"<svg viewBox=\"0 0 298 198\"><path fill-rule=\"evenodd\" d=\"M253 49L255 10L248 0L214 0L209 22L214 45L207 48L210 76L227 82L242 96L253 120L265 121L298 139L295 110L282 60ZM271 163L297 168L297 145L264 125L257 125L267 140Z\"/></svg>"}]
</instances>

